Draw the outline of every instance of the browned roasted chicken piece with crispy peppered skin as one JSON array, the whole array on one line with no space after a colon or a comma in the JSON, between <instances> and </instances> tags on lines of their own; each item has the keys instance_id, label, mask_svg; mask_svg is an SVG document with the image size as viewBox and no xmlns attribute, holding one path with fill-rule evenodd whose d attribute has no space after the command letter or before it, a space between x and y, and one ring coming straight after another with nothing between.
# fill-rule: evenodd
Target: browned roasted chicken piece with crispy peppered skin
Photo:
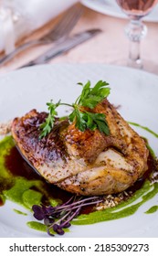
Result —
<instances>
[{"instance_id":1,"label":"browned roasted chicken piece with crispy peppered skin","mask_svg":"<svg viewBox=\"0 0 158 256\"><path fill-rule=\"evenodd\" d=\"M46 112L32 110L12 123L16 144L49 183L78 195L121 192L147 170L148 149L108 100L92 112L106 115L110 135L99 130L80 132L68 120L56 124L39 140Z\"/></svg>"}]
</instances>

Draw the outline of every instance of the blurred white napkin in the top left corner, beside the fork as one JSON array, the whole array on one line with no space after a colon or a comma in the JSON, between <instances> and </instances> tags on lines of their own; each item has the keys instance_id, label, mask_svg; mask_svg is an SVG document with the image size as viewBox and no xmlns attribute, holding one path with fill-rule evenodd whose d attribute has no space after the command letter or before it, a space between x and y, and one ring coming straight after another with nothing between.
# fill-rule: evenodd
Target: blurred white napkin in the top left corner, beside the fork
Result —
<instances>
[{"instance_id":1,"label":"blurred white napkin in the top left corner, beside the fork","mask_svg":"<svg viewBox=\"0 0 158 256\"><path fill-rule=\"evenodd\" d=\"M0 12L0 51L5 49L9 53L17 40L77 2L79 0L5 0L5 15Z\"/></svg>"}]
</instances>

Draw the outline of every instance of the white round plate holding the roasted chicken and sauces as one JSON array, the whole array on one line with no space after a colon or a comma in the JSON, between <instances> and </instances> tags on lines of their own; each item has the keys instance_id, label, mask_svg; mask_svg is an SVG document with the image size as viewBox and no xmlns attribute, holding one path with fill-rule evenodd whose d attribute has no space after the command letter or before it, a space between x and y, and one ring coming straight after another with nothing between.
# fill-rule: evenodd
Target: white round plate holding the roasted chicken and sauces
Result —
<instances>
[{"instance_id":1,"label":"white round plate holding the roasted chicken and sauces","mask_svg":"<svg viewBox=\"0 0 158 256\"><path fill-rule=\"evenodd\" d=\"M109 100L116 106L121 105L119 112L124 119L158 132L158 76L102 64L42 65L6 74L0 79L0 123L33 108L46 111L46 102L51 99L72 103L80 92L77 83L87 80L92 84L98 80L108 81L111 86ZM140 128L133 129L149 140L157 154L158 139ZM87 226L73 225L65 237L158 237L158 211L144 214L153 205L158 205L158 195L132 216ZM18 215L14 208L24 211L10 201L0 208L0 237L47 237L26 226L27 221L35 220L30 213Z\"/></svg>"}]
</instances>

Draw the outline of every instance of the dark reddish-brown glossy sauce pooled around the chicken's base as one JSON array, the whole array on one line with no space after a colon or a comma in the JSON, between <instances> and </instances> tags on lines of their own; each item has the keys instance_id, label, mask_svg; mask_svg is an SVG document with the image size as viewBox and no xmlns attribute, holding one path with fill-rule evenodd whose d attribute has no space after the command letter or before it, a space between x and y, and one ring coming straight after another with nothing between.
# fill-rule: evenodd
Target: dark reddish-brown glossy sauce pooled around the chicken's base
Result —
<instances>
[{"instance_id":1,"label":"dark reddish-brown glossy sauce pooled around the chicken's base","mask_svg":"<svg viewBox=\"0 0 158 256\"><path fill-rule=\"evenodd\" d=\"M148 170L145 172L145 174L137 180L132 187L129 187L126 191L132 191L132 194L140 189L145 181L146 178L151 180L152 174L156 170L156 161L153 158L151 154L149 154L148 157ZM41 176L38 176L37 173L26 164L26 161L22 158L22 156L18 153L16 147L13 147L10 151L9 155L5 156L5 166L10 171L10 173L13 176L24 176L26 179L29 180L44 180ZM70 197L72 197L72 194L68 193L65 190L62 190L58 188L57 186L48 184L46 181L44 183L45 189L47 190L47 194L54 198L59 198L61 201L66 202ZM32 189L37 190L37 187L31 187ZM45 205L48 204L47 198L43 197L42 203ZM3 205L2 198L0 197L0 206ZM93 211L93 207L84 207L82 208L80 213L89 214Z\"/></svg>"}]
</instances>

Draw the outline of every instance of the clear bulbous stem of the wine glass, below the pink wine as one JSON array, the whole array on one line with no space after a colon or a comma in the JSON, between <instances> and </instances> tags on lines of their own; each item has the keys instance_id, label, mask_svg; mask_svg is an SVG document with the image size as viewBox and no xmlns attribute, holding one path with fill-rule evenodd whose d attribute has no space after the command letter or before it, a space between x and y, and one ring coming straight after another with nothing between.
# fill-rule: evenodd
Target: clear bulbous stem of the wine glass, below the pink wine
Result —
<instances>
[{"instance_id":1,"label":"clear bulbous stem of the wine glass, below the pink wine","mask_svg":"<svg viewBox=\"0 0 158 256\"><path fill-rule=\"evenodd\" d=\"M129 61L128 65L142 69L142 59L140 53L140 43L146 35L147 28L142 24L141 19L131 19L130 24L126 27L126 35L130 39Z\"/></svg>"}]
</instances>

